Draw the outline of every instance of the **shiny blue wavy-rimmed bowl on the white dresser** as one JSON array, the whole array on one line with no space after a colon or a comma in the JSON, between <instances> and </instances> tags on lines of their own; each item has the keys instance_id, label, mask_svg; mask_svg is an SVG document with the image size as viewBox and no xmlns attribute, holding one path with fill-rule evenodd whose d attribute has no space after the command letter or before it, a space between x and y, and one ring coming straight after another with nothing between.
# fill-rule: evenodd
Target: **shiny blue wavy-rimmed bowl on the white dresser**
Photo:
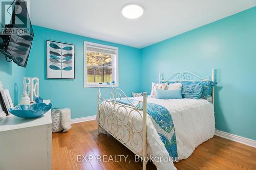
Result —
<instances>
[{"instance_id":1,"label":"shiny blue wavy-rimmed bowl on the white dresser","mask_svg":"<svg viewBox=\"0 0 256 170\"><path fill-rule=\"evenodd\" d=\"M20 105L14 108L8 109L8 111L18 117L22 118L35 118L39 117L52 108L52 104L36 103L33 105Z\"/></svg>"}]
</instances>

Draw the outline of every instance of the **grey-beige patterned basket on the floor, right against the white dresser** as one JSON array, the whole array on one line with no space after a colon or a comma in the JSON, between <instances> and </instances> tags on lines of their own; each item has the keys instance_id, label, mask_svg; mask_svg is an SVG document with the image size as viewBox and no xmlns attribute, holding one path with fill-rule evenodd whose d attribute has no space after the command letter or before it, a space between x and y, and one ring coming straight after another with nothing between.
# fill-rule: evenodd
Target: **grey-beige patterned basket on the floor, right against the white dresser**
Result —
<instances>
[{"instance_id":1,"label":"grey-beige patterned basket on the floor, right against the white dresser","mask_svg":"<svg viewBox=\"0 0 256 170\"><path fill-rule=\"evenodd\" d=\"M61 121L61 108L52 108L52 133L61 132L63 128L60 125Z\"/></svg>"}]
</instances>

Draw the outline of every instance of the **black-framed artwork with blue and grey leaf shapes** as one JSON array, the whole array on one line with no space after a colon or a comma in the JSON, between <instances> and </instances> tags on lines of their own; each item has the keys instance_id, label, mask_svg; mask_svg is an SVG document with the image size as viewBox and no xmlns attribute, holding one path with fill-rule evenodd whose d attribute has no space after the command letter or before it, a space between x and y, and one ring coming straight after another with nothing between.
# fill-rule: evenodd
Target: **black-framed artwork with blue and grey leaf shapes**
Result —
<instances>
[{"instance_id":1,"label":"black-framed artwork with blue and grey leaf shapes","mask_svg":"<svg viewBox=\"0 0 256 170\"><path fill-rule=\"evenodd\" d=\"M47 79L75 79L75 45L46 41Z\"/></svg>"}]
</instances>

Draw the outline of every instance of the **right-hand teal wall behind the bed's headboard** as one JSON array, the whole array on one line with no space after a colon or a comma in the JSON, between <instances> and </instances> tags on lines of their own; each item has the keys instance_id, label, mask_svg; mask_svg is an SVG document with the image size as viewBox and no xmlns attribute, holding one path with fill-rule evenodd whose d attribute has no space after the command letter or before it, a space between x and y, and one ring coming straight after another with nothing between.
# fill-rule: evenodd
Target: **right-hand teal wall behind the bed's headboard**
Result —
<instances>
[{"instance_id":1,"label":"right-hand teal wall behind the bed's headboard","mask_svg":"<svg viewBox=\"0 0 256 170\"><path fill-rule=\"evenodd\" d=\"M142 90L158 74L217 70L216 129L256 140L256 7L147 46Z\"/></svg>"}]
</instances>

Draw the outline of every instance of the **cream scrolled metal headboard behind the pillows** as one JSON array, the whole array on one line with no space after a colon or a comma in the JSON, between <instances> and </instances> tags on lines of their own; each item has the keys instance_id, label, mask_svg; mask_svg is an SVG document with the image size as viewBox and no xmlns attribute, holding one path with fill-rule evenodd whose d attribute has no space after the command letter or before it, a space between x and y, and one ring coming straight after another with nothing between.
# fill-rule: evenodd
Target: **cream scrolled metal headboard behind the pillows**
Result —
<instances>
[{"instance_id":1,"label":"cream scrolled metal headboard behind the pillows","mask_svg":"<svg viewBox=\"0 0 256 170\"><path fill-rule=\"evenodd\" d=\"M192 72L189 71L183 71L183 72L177 72L176 74L168 77L165 79L163 74L159 74L159 83L170 83L170 82L194 82L194 81L215 81L215 69L211 69L211 75L208 75L207 78L202 78L201 76L198 76ZM212 105L214 105L215 100L215 87L212 89Z\"/></svg>"}]
</instances>

